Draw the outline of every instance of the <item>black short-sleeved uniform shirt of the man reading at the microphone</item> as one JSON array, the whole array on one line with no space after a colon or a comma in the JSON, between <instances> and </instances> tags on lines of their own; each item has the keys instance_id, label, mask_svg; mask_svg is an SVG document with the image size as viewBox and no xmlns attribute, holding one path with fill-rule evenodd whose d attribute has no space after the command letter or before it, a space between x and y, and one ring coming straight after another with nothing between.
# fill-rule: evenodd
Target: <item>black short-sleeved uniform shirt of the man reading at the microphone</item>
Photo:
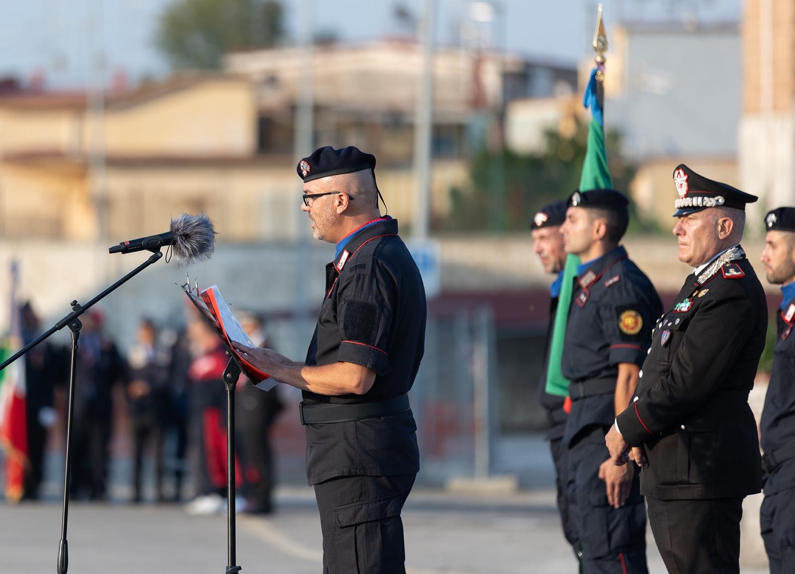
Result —
<instances>
[{"instance_id":1,"label":"black short-sleeved uniform shirt of the man reading at the microphone","mask_svg":"<svg viewBox=\"0 0 795 574\"><path fill-rule=\"evenodd\" d=\"M363 365L375 371L375 382L363 395L329 397L304 391L304 402L371 402L407 393L425 349L425 319L422 278L397 236L397 220L383 218L357 232L326 266L326 294L306 364ZM420 467L416 430L410 410L307 425L308 482L415 474Z\"/></svg>"}]
</instances>

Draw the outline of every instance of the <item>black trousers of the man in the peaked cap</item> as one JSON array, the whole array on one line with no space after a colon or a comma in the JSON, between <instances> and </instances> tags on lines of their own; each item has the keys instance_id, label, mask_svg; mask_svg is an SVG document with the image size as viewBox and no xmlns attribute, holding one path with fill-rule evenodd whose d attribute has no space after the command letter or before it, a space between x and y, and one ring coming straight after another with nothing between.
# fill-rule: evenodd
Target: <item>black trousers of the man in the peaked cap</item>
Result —
<instances>
[{"instance_id":1,"label":"black trousers of the man in the peaked cap","mask_svg":"<svg viewBox=\"0 0 795 574\"><path fill-rule=\"evenodd\" d=\"M669 574L738 574L743 497L646 502Z\"/></svg>"}]
</instances>

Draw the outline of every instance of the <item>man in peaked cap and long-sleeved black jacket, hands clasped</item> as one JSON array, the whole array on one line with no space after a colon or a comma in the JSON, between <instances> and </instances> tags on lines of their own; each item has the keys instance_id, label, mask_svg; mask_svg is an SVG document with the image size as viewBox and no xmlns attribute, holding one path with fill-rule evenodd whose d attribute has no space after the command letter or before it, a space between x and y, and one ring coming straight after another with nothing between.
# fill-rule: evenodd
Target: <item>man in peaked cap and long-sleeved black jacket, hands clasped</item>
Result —
<instances>
[{"instance_id":1,"label":"man in peaked cap and long-sleeved black jacket, hands clasped","mask_svg":"<svg viewBox=\"0 0 795 574\"><path fill-rule=\"evenodd\" d=\"M679 260L695 268L657 321L633 402L605 437L642 463L649 522L669 572L739 572L743 498L762 466L748 393L765 347L765 293L739 241L755 196L679 165ZM626 465L632 466L632 465Z\"/></svg>"}]
</instances>

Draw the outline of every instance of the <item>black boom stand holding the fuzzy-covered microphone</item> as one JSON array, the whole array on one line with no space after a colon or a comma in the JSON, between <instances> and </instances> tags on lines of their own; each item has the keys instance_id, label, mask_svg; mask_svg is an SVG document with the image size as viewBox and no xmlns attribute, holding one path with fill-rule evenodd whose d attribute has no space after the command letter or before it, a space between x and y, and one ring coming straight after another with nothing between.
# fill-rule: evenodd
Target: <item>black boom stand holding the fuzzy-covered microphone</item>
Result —
<instances>
[{"instance_id":1,"label":"black boom stand holding the fuzzy-covered microphone","mask_svg":"<svg viewBox=\"0 0 795 574\"><path fill-rule=\"evenodd\" d=\"M133 277L141 273L147 267L152 265L153 263L157 262L160 258L163 257L163 254L160 252L160 247L153 248L153 254L149 256L149 258L143 262L140 266L136 267L134 270L127 273L124 277L116 281L113 285L105 289L102 293L99 293L96 297L88 301L87 304L80 305L77 301L72 301L69 304L72 307L72 312L65 316L63 319L58 321L53 327L49 328L47 332L43 333L42 335L38 336L36 339L22 347L19 351L14 353L14 355L10 356L9 359L3 361L0 364L0 370L5 369L11 363L14 363L17 359L19 359L22 355L25 355L28 351L30 351L33 347L36 347L37 344L41 343L43 340L47 339L50 335L52 335L56 331L60 331L62 328L67 327L72 332L72 367L69 373L69 399L68 399L68 409L67 409L67 417L66 417L66 465L64 469L64 506L63 506L63 514L61 514L61 522L60 522L60 542L58 544L58 574L66 574L69 568L69 551L68 545L66 541L66 526L69 516L69 482L70 482L70 474L72 471L72 409L75 405L75 374L77 370L77 341L80 339L80 329L83 327L83 324L80 322L80 316L83 315L91 306L96 304L98 301L101 301L104 297L107 297L110 293L113 293L116 289L124 285L127 281L130 281ZM235 379L236 380L236 379Z\"/></svg>"}]
</instances>

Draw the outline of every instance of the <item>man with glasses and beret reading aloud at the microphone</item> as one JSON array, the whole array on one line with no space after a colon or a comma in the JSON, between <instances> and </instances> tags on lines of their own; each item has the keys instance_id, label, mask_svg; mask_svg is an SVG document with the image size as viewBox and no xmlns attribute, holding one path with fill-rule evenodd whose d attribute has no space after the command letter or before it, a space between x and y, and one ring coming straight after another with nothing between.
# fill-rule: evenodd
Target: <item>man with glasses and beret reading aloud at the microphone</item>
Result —
<instances>
[{"instance_id":1,"label":"man with glasses and beret reading aloud at the microphone","mask_svg":"<svg viewBox=\"0 0 795 574\"><path fill-rule=\"evenodd\" d=\"M325 574L405 572L400 513L420 466L407 393L425 346L425 289L397 221L378 210L374 168L355 147L298 163L313 235L337 245L306 361L236 346L303 390Z\"/></svg>"}]
</instances>

